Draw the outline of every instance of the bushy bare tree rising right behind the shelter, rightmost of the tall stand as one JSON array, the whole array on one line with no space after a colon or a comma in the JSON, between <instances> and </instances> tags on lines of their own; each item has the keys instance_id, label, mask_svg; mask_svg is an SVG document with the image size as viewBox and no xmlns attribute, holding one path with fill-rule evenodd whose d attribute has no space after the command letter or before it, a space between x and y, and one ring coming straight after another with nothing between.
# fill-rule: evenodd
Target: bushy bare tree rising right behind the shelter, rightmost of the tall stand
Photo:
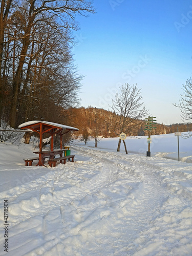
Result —
<instances>
[{"instance_id":1,"label":"bushy bare tree rising right behind the shelter, rightmost of the tall stand","mask_svg":"<svg viewBox=\"0 0 192 256\"><path fill-rule=\"evenodd\" d=\"M25 116L24 121L34 117L51 120L58 106L69 108L78 102L76 93L81 77L75 73L69 44L62 36L66 31L54 29L53 24L54 20L52 26L47 25L40 32L35 30L33 58L26 68L18 105L18 117Z\"/></svg>"}]
</instances>

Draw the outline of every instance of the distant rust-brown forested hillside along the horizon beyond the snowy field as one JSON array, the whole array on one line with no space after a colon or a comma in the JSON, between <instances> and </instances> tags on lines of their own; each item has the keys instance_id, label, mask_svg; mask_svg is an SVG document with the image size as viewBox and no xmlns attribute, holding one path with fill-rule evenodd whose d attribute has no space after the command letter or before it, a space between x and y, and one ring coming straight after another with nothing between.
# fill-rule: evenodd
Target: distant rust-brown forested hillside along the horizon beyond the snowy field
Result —
<instances>
[{"instance_id":1,"label":"distant rust-brown forested hillside along the horizon beyond the snowy field","mask_svg":"<svg viewBox=\"0 0 192 256\"><path fill-rule=\"evenodd\" d=\"M88 134L94 137L94 133L97 132L99 136L102 137L118 137L117 127L117 115L112 111L107 111L103 109L93 108L70 108L64 111L63 117L65 116L65 123L77 127L79 131L76 136ZM158 119L157 119L158 121ZM137 122L137 120L135 120ZM157 134L168 134L177 132L177 126L179 126L180 132L187 132L192 130L192 124L179 123L172 125L164 125L157 123L157 129L152 131L152 135ZM139 122L138 125L133 123L134 129L130 129L126 133L127 136L143 136L147 135L145 128L145 121Z\"/></svg>"}]
</instances>

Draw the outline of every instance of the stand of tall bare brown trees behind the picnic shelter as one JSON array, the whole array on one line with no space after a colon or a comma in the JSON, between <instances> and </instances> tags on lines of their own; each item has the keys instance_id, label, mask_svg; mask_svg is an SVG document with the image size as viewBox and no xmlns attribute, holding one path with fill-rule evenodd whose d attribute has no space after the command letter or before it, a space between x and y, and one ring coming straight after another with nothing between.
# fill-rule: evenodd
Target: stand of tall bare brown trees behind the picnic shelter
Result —
<instances>
[{"instance_id":1,"label":"stand of tall bare brown trees behind the picnic shelter","mask_svg":"<svg viewBox=\"0 0 192 256\"><path fill-rule=\"evenodd\" d=\"M56 121L75 106L81 76L73 66L76 15L93 13L90 1L0 1L0 122ZM1 124L1 123L0 123Z\"/></svg>"}]
</instances>

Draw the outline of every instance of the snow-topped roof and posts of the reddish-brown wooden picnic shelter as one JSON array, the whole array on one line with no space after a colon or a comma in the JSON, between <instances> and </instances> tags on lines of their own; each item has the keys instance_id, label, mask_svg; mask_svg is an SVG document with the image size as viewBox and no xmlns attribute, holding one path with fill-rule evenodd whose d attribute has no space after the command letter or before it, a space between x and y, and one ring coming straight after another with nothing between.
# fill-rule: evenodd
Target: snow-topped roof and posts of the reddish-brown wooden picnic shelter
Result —
<instances>
[{"instance_id":1,"label":"snow-topped roof and posts of the reddish-brown wooden picnic shelter","mask_svg":"<svg viewBox=\"0 0 192 256\"><path fill-rule=\"evenodd\" d=\"M42 163L42 135L49 133L51 135L51 151L53 151L53 136L58 134L60 136L60 149L62 149L62 136L70 131L78 131L79 129L59 123L47 121L29 121L18 126L20 129L30 129L39 134L39 165Z\"/></svg>"}]
</instances>

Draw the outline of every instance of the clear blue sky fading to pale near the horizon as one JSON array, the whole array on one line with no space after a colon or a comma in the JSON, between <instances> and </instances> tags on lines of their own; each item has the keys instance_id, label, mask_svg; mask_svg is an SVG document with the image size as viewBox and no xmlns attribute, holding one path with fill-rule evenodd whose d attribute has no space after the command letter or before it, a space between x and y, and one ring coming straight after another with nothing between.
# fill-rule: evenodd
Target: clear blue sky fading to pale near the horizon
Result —
<instances>
[{"instance_id":1,"label":"clear blue sky fading to pale near the horizon","mask_svg":"<svg viewBox=\"0 0 192 256\"><path fill-rule=\"evenodd\" d=\"M158 123L182 122L178 103L192 67L191 0L95 0L77 17L75 64L81 106L111 110L119 86L137 84Z\"/></svg>"}]
</instances>

